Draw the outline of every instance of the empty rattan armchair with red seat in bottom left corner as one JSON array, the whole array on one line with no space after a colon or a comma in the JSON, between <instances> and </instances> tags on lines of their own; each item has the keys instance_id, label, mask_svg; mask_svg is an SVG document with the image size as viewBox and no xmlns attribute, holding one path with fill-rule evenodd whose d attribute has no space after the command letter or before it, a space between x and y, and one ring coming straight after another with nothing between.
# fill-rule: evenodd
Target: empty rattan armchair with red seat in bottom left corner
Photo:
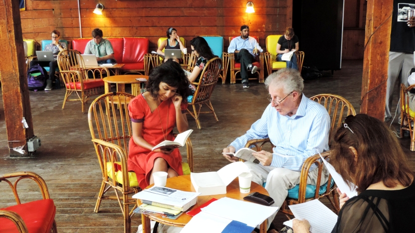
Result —
<instances>
[{"instance_id":1,"label":"empty rattan armchair with red seat in bottom left corner","mask_svg":"<svg viewBox=\"0 0 415 233\"><path fill-rule=\"evenodd\" d=\"M14 183L10 178L17 178ZM31 179L40 188L42 200L22 204L17 194L17 183L23 179ZM57 233L55 213L56 207L49 197L45 181L33 172L15 172L0 176L0 182L10 186L17 205L0 209L0 232L19 233ZM36 215L33 215L36 212ZM8 219L8 220L4 220ZM10 220L10 221L9 221Z\"/></svg>"}]
</instances>

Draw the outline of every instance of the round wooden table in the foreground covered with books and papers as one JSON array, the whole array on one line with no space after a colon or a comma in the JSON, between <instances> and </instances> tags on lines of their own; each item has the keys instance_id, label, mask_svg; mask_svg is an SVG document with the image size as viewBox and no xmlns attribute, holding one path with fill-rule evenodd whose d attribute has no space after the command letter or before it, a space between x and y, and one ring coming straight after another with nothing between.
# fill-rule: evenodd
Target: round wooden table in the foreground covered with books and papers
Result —
<instances>
[{"instance_id":1,"label":"round wooden table in the foreground covered with books and papers","mask_svg":"<svg viewBox=\"0 0 415 233\"><path fill-rule=\"evenodd\" d=\"M146 189L153 187L153 185L148 186ZM193 188L192 182L190 181L190 175L185 176L177 176L173 178L167 179L166 187L172 188L172 189L178 189L182 191L187 192L196 192ZM261 194L268 195L268 192L260 185L251 182L251 191L250 193L258 192ZM249 193L240 193L239 191L239 181L236 178L233 180L227 187L226 187L226 194L220 194L220 195L210 195L210 196L202 196L198 197L198 201L196 205L191 207L188 211L191 211L193 209L196 209L200 207L201 205L205 204L207 201L209 201L212 198L222 198L222 197L228 197L233 198L236 200L243 200L245 196L247 196ZM138 206L140 206L141 200L137 200ZM186 213L183 213L179 218L173 220L173 219L165 219L165 218L159 218L155 216L147 216L147 215L141 215L141 222L143 224L143 233L151 233L150 229L150 220L157 221L162 224L174 226L174 227L185 227L187 223L192 219L192 216L187 215ZM266 220L260 225L259 232L260 233L266 233Z\"/></svg>"}]
</instances>

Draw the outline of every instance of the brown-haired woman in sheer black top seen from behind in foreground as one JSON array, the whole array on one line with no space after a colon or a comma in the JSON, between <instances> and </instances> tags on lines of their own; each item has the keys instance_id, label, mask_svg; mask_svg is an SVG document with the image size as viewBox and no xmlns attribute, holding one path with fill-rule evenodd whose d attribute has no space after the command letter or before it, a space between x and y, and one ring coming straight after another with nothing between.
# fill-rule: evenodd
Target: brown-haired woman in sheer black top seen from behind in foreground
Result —
<instances>
[{"instance_id":1,"label":"brown-haired woman in sheer black top seen from behind in foreground","mask_svg":"<svg viewBox=\"0 0 415 233\"><path fill-rule=\"evenodd\" d=\"M337 189L341 210L333 233L414 231L414 172L384 122L365 114L346 117L331 151L330 163L359 192L349 200ZM294 233L309 228L306 220L293 222Z\"/></svg>"}]
</instances>

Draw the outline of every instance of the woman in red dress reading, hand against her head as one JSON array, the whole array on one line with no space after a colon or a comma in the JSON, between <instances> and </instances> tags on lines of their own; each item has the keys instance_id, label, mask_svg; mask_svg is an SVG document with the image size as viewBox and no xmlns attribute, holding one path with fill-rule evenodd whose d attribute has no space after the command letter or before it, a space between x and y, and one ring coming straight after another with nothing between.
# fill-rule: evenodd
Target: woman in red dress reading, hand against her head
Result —
<instances>
[{"instance_id":1,"label":"woman in red dress reading, hand against her head","mask_svg":"<svg viewBox=\"0 0 415 233\"><path fill-rule=\"evenodd\" d=\"M130 139L128 169L134 171L140 188L154 183L153 172L167 172L167 177L183 175L178 148L151 149L164 140L174 140L173 128L188 130L186 117L189 80L177 62L166 61L152 70L147 92L132 99L129 114L133 137Z\"/></svg>"}]
</instances>

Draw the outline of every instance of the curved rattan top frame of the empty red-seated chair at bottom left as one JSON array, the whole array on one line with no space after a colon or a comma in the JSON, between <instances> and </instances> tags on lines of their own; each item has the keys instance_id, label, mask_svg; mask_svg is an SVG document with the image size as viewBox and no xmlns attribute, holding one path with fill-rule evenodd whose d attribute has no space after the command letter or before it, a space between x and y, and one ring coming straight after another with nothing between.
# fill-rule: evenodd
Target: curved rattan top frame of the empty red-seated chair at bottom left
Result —
<instances>
[{"instance_id":1,"label":"curved rattan top frame of the empty red-seated chair at bottom left","mask_svg":"<svg viewBox=\"0 0 415 233\"><path fill-rule=\"evenodd\" d=\"M17 178L17 180L14 181L14 183L12 184L8 180L9 178ZM50 199L49 191L48 191L47 186L46 186L46 182L42 179L42 177L40 177L36 173L34 173L34 172L14 172L14 173L4 174L4 175L0 176L0 182L5 182L10 186L10 188L13 191L14 199L16 200L17 205L21 204L19 196L17 194L17 184L20 180L23 180L23 179L31 179L34 182L36 182L36 184L39 186L40 192L42 194L42 198L43 199Z\"/></svg>"}]
</instances>

